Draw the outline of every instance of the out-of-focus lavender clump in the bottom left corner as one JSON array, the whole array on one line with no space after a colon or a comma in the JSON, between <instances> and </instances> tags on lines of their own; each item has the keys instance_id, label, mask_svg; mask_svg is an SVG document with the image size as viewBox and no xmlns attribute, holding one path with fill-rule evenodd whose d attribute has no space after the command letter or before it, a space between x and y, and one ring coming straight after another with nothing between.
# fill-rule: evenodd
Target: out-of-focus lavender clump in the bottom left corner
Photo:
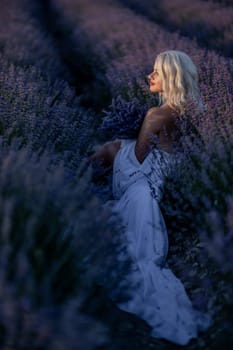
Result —
<instances>
[{"instance_id":1,"label":"out-of-focus lavender clump in the bottom left corner","mask_svg":"<svg viewBox=\"0 0 233 350\"><path fill-rule=\"evenodd\" d=\"M1 267L1 349L92 350L106 344L106 327L80 312L80 296L60 306L35 306L30 297L16 292L4 274Z\"/></svg>"}]
</instances>

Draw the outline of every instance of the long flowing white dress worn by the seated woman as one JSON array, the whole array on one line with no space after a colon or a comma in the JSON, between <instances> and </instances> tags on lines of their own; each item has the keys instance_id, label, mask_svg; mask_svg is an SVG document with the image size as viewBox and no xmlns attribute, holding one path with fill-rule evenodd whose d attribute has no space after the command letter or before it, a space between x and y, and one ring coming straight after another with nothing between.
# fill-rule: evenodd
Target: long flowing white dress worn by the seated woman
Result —
<instances>
[{"instance_id":1,"label":"long flowing white dress worn by the seated woman","mask_svg":"<svg viewBox=\"0 0 233 350\"><path fill-rule=\"evenodd\" d=\"M152 337L186 345L207 330L212 319L193 308L182 282L166 263L168 236L159 201L174 155L153 149L140 163L135 143L136 139L121 140L113 164L112 210L122 218L132 260L131 272L122 281L130 298L116 304L144 319L152 327Z\"/></svg>"}]
</instances>

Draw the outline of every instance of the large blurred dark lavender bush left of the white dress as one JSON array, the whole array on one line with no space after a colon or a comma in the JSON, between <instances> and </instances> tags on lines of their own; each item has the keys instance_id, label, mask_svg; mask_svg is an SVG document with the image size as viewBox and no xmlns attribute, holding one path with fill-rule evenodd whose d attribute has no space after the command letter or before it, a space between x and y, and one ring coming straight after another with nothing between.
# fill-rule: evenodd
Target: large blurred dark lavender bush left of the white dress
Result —
<instances>
[{"instance_id":1,"label":"large blurred dark lavender bush left of the white dress","mask_svg":"<svg viewBox=\"0 0 233 350\"><path fill-rule=\"evenodd\" d=\"M8 286L13 293L2 309L1 344L4 345L9 341L19 346L16 335L21 334L22 343L32 349L32 344L26 341L36 332L39 339L34 339L35 344L43 341L44 336L46 341L49 337L51 344L62 339L66 346L72 341L74 346L80 342L81 329L74 333L80 317L85 320L85 315L76 314L73 307L78 311L78 305L82 306L93 295L95 283L121 294L120 270L125 270L129 263L125 259L116 265L117 256L124 251L122 230L112 215L110 220L109 210L93 197L90 169L82 177L77 171L77 180L71 182L64 166L53 165L51 159L48 153L41 156L32 153L30 147L19 149L16 142L11 147L1 144L0 266L5 282L1 284L0 297L4 300ZM98 302L100 300L96 300ZM35 324L24 320L27 308ZM47 318L45 329L37 330L41 317ZM23 321L21 328L19 318ZM65 325L65 322L68 323ZM88 318L85 322L87 336L80 349L89 342L91 330L88 329L95 327ZM102 332L102 327L98 324L96 327L98 343L101 339L98 329ZM62 334L59 334L61 328ZM97 343L91 342L93 347Z\"/></svg>"}]
</instances>

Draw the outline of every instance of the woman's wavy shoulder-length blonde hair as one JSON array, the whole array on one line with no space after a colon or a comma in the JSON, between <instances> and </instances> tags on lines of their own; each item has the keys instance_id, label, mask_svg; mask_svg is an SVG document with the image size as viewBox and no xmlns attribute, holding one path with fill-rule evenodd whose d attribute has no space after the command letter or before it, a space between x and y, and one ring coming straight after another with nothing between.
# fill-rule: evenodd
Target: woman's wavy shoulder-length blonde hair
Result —
<instances>
[{"instance_id":1,"label":"woman's wavy shoulder-length blonde hair","mask_svg":"<svg viewBox=\"0 0 233 350\"><path fill-rule=\"evenodd\" d=\"M188 102L193 101L198 110L205 109L199 90L197 68L191 58L183 51L167 50L161 52L155 64L162 78L162 93L159 105L166 103L184 114Z\"/></svg>"}]
</instances>

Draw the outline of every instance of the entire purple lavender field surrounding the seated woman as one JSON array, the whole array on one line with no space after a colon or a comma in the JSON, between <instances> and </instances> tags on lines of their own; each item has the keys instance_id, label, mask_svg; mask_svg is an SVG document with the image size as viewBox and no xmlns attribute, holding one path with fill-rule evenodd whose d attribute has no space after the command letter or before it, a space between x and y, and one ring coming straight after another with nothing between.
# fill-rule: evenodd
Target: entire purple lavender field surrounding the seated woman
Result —
<instances>
[{"instance_id":1,"label":"entire purple lavender field surrounding the seated woman","mask_svg":"<svg viewBox=\"0 0 233 350\"><path fill-rule=\"evenodd\" d=\"M183 120L161 202L168 264L214 318L184 348L233 345L232 14L227 0L2 0L0 349L180 348L107 298L130 261L105 205L112 173L87 162L137 135L158 105L146 75L170 49L198 67L206 106Z\"/></svg>"}]
</instances>

